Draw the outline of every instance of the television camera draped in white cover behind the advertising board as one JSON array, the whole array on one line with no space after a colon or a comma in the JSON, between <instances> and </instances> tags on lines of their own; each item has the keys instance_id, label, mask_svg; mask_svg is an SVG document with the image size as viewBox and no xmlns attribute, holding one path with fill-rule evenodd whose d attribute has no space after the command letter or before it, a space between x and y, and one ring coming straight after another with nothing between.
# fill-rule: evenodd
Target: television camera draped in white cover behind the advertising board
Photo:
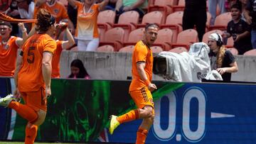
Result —
<instances>
[{"instance_id":1,"label":"television camera draped in white cover behind the advertising board","mask_svg":"<svg viewBox=\"0 0 256 144\"><path fill-rule=\"evenodd\" d=\"M154 57L153 73L176 82L201 82L202 79L222 80L221 75L210 69L206 43L193 43L188 52L160 52Z\"/></svg>"}]
</instances>

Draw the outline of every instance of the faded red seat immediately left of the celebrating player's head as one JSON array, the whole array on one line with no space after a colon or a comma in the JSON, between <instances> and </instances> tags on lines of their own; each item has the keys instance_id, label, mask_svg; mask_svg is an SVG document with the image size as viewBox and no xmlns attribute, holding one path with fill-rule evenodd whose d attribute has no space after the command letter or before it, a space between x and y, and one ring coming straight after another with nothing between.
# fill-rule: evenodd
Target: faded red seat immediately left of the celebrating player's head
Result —
<instances>
[{"instance_id":1,"label":"faded red seat immediately left of the celebrating player's head","mask_svg":"<svg viewBox=\"0 0 256 144\"><path fill-rule=\"evenodd\" d=\"M124 46L135 45L139 40L142 40L144 35L144 28L138 28L129 33L128 40L124 42Z\"/></svg>"}]
</instances>

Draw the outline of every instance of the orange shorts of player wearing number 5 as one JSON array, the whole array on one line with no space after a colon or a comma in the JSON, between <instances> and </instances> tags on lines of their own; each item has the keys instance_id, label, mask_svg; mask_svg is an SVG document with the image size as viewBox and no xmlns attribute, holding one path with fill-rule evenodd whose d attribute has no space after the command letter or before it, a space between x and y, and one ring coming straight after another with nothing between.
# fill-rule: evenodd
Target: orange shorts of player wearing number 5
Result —
<instances>
[{"instance_id":1,"label":"orange shorts of player wearing number 5","mask_svg":"<svg viewBox=\"0 0 256 144\"><path fill-rule=\"evenodd\" d=\"M21 92L21 96L25 104L35 111L47 110L47 99L43 99L46 96L46 89L43 87L36 92Z\"/></svg>"}]
</instances>

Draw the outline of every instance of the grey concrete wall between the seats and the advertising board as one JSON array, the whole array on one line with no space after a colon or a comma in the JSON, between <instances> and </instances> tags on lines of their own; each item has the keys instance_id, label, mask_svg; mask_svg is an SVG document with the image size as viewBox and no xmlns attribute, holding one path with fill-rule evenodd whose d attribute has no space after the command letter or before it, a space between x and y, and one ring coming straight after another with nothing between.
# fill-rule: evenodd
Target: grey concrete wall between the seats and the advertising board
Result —
<instances>
[{"instance_id":1,"label":"grey concrete wall between the seats and the advertising board","mask_svg":"<svg viewBox=\"0 0 256 144\"><path fill-rule=\"evenodd\" d=\"M63 51L60 57L60 76L65 78L70 74L72 60L84 62L92 79L124 80L130 77L132 69L132 54L122 52L74 52ZM236 56L239 71L232 74L233 81L256 82L256 57ZM156 75L154 80L163 80Z\"/></svg>"}]
</instances>

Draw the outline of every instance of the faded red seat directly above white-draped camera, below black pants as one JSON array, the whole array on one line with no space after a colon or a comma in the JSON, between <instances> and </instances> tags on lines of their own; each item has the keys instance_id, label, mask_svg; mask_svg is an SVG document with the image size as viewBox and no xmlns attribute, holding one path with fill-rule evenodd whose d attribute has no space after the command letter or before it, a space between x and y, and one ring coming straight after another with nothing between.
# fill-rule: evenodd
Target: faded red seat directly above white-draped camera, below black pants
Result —
<instances>
[{"instance_id":1,"label":"faded red seat directly above white-draped camera, below black pants","mask_svg":"<svg viewBox=\"0 0 256 144\"><path fill-rule=\"evenodd\" d=\"M171 44L171 48L176 47L185 47L187 50L189 49L189 46L193 43L197 43L198 40L198 33L194 29L188 29L185 31L182 31L181 33L178 33L177 42Z\"/></svg>"}]
</instances>

